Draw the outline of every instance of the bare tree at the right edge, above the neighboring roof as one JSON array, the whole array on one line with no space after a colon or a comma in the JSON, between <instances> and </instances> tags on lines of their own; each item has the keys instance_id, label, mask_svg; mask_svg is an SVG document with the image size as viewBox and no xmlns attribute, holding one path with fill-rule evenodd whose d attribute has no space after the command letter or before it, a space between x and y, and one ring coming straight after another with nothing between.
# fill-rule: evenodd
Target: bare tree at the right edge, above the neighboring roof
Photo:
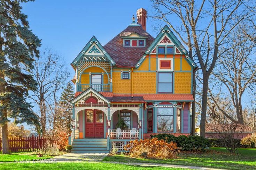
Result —
<instances>
[{"instance_id":1,"label":"bare tree at the right edge, above the neighboring roof","mask_svg":"<svg viewBox=\"0 0 256 170\"><path fill-rule=\"evenodd\" d=\"M209 100L216 104L222 114L228 119L239 124L244 124L242 110L242 96L247 89L256 87L256 62L252 58L255 56L254 49L256 44L246 41L247 37L243 34L234 32L230 37L230 44L237 44L232 49L225 51L222 57L216 61L217 67L213 71L211 79L212 89L209 91ZM218 94L214 95L214 92ZM224 97L225 96L225 97ZM235 118L232 118L226 111L222 110L220 100L227 100L232 103Z\"/></svg>"}]
</instances>

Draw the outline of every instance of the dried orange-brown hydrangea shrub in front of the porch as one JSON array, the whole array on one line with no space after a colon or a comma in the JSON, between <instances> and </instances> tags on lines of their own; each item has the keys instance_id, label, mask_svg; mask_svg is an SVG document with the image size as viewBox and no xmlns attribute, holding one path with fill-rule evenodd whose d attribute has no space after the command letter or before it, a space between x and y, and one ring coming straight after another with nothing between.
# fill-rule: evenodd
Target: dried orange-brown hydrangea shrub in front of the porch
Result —
<instances>
[{"instance_id":1,"label":"dried orange-brown hydrangea shrub in front of the porch","mask_svg":"<svg viewBox=\"0 0 256 170\"><path fill-rule=\"evenodd\" d=\"M167 137L166 137L167 139ZM127 151L131 147L130 153L134 157L142 158L172 158L176 154L177 144L167 143L164 139L138 139L130 141L131 144L125 145L124 149Z\"/></svg>"}]
</instances>

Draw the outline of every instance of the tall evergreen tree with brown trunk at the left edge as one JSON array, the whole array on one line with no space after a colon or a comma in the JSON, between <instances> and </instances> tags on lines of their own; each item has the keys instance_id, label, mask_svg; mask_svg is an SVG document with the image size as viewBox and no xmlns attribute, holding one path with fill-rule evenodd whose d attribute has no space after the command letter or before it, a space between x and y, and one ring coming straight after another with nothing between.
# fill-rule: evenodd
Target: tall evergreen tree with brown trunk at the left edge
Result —
<instances>
[{"instance_id":1,"label":"tall evergreen tree with brown trunk at the left edge","mask_svg":"<svg viewBox=\"0 0 256 170\"><path fill-rule=\"evenodd\" d=\"M2 152L10 153L8 146L9 118L15 124L27 122L39 127L38 116L26 102L29 90L36 82L28 72L33 68L33 57L39 57L41 40L33 34L20 3L31 0L0 0L0 127Z\"/></svg>"}]
</instances>

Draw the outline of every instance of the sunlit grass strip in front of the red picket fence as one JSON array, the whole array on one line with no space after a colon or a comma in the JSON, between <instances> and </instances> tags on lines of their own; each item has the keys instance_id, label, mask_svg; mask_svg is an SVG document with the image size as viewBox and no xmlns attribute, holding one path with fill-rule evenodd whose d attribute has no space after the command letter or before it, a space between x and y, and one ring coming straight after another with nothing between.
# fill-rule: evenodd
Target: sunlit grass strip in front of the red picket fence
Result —
<instances>
[{"instance_id":1,"label":"sunlit grass strip in front of the red picket fence","mask_svg":"<svg viewBox=\"0 0 256 170\"><path fill-rule=\"evenodd\" d=\"M64 152L60 152L59 155ZM14 160L33 160L33 159L50 159L56 155L42 155L42 157L38 158L38 154L34 152L13 152L11 154L1 154L0 153L0 162L13 162Z\"/></svg>"}]
</instances>

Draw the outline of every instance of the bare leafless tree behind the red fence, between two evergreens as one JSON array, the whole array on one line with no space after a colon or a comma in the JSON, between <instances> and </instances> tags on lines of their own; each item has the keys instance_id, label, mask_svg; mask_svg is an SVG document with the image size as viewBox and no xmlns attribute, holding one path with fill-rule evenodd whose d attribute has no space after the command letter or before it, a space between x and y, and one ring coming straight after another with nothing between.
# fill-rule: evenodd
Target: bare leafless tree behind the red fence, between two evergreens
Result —
<instances>
[{"instance_id":1,"label":"bare leafless tree behind the red fence, between two evergreens","mask_svg":"<svg viewBox=\"0 0 256 170\"><path fill-rule=\"evenodd\" d=\"M38 90L32 92L29 96L40 110L40 122L42 133L45 134L47 122L47 108L54 106L58 99L59 91L67 85L67 78L70 76L65 62L59 54L51 49L45 49L40 58L35 59L34 69L31 70Z\"/></svg>"}]
</instances>

